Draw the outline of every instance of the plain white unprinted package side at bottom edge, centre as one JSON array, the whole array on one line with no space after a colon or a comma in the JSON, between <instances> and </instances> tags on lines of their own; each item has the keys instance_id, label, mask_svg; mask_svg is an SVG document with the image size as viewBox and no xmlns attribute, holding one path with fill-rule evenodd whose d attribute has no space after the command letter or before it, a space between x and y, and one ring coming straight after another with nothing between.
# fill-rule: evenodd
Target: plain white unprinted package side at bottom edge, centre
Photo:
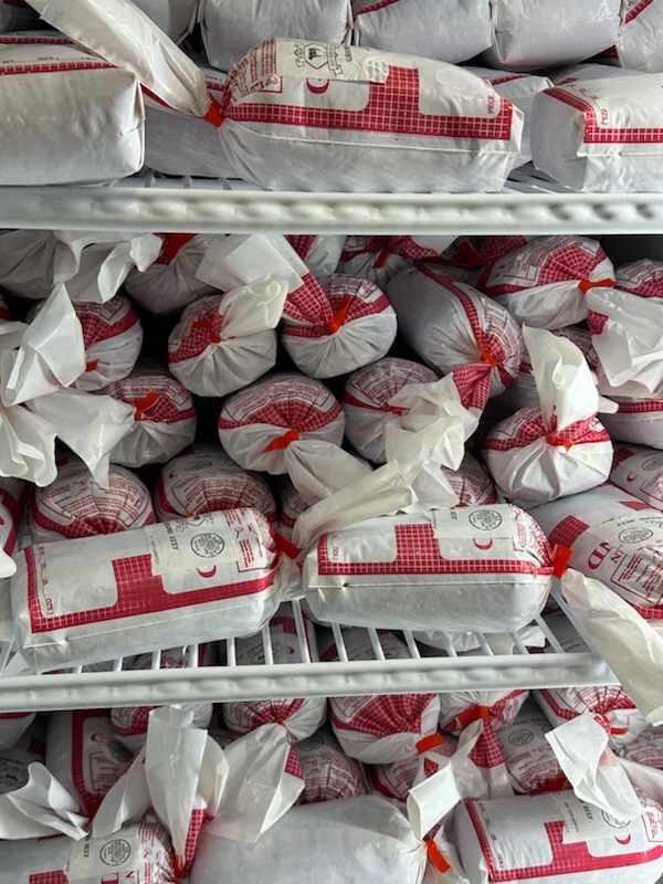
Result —
<instances>
[{"instance_id":1,"label":"plain white unprinted package side at bottom edge, centre","mask_svg":"<svg viewBox=\"0 0 663 884\"><path fill-rule=\"evenodd\" d=\"M190 881L419 884L425 863L425 845L402 810L386 798L359 796L293 808L255 844L203 830Z\"/></svg>"}]
</instances>

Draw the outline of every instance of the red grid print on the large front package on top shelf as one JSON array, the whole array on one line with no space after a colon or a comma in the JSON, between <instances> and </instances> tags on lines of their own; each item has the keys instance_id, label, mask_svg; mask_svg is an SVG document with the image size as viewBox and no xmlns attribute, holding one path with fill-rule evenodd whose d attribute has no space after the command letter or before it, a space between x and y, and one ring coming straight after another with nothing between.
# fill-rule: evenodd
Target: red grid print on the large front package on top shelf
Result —
<instances>
[{"instance_id":1,"label":"red grid print on the large front package on top shelf","mask_svg":"<svg viewBox=\"0 0 663 884\"><path fill-rule=\"evenodd\" d=\"M419 71L389 67L385 83L368 84L368 102L361 110L249 102L224 108L239 123L296 126L306 129L393 133L429 138L472 138L508 141L513 106L502 99L495 117L422 114L419 109ZM486 101L487 101L486 95Z\"/></svg>"}]
</instances>

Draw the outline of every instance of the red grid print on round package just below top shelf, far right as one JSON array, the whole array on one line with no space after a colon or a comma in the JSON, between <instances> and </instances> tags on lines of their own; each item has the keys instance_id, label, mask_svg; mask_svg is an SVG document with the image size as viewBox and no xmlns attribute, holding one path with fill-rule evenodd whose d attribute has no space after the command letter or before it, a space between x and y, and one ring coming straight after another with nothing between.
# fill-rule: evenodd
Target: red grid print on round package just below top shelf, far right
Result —
<instances>
[{"instance_id":1,"label":"red grid print on round package just below top shelf, far right","mask_svg":"<svg viewBox=\"0 0 663 884\"><path fill-rule=\"evenodd\" d=\"M596 267L607 259L606 252L591 240L581 236L550 236L543 242L539 240L528 243L512 259L517 261L516 267L520 264L536 267L534 278L525 278L516 270L518 285L509 283L490 285L488 280L493 273L491 265L482 272L476 286L484 294L496 297L566 280L589 280ZM508 264L504 275L509 275Z\"/></svg>"}]
</instances>

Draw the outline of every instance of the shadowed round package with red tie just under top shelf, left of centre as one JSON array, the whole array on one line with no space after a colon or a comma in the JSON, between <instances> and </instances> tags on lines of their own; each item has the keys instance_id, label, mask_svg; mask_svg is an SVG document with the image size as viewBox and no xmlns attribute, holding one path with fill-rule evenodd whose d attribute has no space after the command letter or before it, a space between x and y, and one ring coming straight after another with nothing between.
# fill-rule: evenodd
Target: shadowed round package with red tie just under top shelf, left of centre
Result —
<instances>
[{"instance_id":1,"label":"shadowed round package with red tie just under top shelf, left of centre","mask_svg":"<svg viewBox=\"0 0 663 884\"><path fill-rule=\"evenodd\" d=\"M181 117L169 116L181 123ZM209 238L202 233L161 233L160 236L164 245L159 257L147 270L130 271L124 284L143 309L155 314L172 313L214 292L211 285L196 277Z\"/></svg>"}]
</instances>

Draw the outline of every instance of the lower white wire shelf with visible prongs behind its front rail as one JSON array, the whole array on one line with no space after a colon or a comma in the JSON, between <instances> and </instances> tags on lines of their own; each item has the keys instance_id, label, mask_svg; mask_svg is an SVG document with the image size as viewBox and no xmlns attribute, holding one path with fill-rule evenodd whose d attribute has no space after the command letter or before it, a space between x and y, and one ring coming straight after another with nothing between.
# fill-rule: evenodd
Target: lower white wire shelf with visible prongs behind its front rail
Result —
<instances>
[{"instance_id":1,"label":"lower white wire shelf with visible prongs behind its front rail","mask_svg":"<svg viewBox=\"0 0 663 884\"><path fill-rule=\"evenodd\" d=\"M567 615L564 600L556 597ZM304 627L295 602L302 659L309 660ZM236 665L234 641L225 644L227 665L198 666L197 646L189 648L186 669L160 669L160 654L152 654L151 667L123 670L123 660L112 662L107 672L80 670L56 674L12 674L19 657L6 645L0 657L0 712L82 709L113 706L152 706L172 703L222 703L239 699L270 699L306 696L364 694L444 693L470 690L564 687L617 684L604 661L593 651L565 653L544 617L535 621L550 642L552 652L532 653L514 633L513 654L494 654L481 633L475 653L459 655L449 638L435 656L421 656L410 632L397 633L410 652L408 660L387 660L375 630L368 633L375 659L348 661L343 631L334 627L337 662L273 663L269 629L263 630L265 663Z\"/></svg>"}]
</instances>

